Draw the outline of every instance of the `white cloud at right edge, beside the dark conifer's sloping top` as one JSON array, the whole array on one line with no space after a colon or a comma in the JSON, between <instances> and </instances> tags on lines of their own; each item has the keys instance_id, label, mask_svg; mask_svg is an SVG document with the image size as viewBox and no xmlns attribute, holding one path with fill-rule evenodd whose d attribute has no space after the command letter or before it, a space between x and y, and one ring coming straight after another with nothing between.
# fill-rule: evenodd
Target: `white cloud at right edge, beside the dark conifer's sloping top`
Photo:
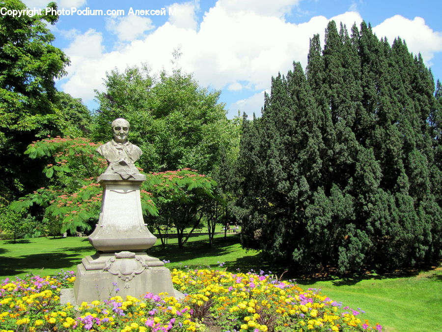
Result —
<instances>
[{"instance_id":1,"label":"white cloud at right edge, beside the dark conifer's sloping top","mask_svg":"<svg viewBox=\"0 0 442 332\"><path fill-rule=\"evenodd\" d=\"M410 52L414 55L420 52L427 65L431 64L435 52L442 51L442 31L433 31L421 17L409 20L395 15L374 27L373 31L379 38L386 36L390 43L400 36Z\"/></svg>"}]
</instances>

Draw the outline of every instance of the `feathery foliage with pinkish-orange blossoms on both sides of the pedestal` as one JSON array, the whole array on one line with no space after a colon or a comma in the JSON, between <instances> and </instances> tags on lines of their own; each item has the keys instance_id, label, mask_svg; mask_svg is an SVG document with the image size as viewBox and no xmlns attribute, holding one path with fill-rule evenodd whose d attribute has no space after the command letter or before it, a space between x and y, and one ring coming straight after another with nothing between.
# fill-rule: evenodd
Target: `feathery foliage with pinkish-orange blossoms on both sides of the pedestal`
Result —
<instances>
[{"instance_id":1,"label":"feathery foliage with pinkish-orange blossoms on both sides of the pedestal","mask_svg":"<svg viewBox=\"0 0 442 332\"><path fill-rule=\"evenodd\" d=\"M95 152L98 146L81 137L46 138L29 145L25 152L29 157L53 158L43 170L51 179L50 185L13 202L11 208L22 211L34 205L42 207L43 222L53 235L67 230L75 233L79 228L90 230L101 207L102 188L96 177L107 167L106 160ZM210 177L190 169L149 173L141 186L141 209L144 215L158 216L158 207L162 218L181 231L182 239L203 200L212 197L215 185Z\"/></svg>"}]
</instances>

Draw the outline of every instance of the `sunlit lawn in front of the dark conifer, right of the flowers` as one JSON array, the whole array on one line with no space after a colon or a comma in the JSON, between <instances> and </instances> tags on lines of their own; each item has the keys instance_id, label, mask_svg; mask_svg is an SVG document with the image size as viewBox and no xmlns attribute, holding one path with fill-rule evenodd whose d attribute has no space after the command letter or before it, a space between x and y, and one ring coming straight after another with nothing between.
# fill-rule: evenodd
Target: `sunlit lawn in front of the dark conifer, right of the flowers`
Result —
<instances>
[{"instance_id":1,"label":"sunlit lawn in front of the dark conifer, right of the flowers","mask_svg":"<svg viewBox=\"0 0 442 332\"><path fill-rule=\"evenodd\" d=\"M335 301L357 309L371 323L379 322L386 331L441 331L442 270L414 276L363 280L298 280L303 288L317 288Z\"/></svg>"}]
</instances>

